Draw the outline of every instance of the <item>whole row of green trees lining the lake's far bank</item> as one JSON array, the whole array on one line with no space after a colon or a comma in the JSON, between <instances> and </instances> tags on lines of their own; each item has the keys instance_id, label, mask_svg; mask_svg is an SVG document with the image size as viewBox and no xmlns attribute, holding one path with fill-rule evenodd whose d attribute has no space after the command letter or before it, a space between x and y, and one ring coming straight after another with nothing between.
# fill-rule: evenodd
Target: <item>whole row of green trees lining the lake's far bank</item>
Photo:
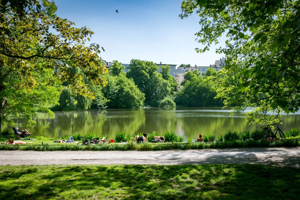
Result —
<instances>
[{"instance_id":1,"label":"whole row of green trees lining the lake's far bank","mask_svg":"<svg viewBox=\"0 0 300 200\"><path fill-rule=\"evenodd\" d=\"M198 71L187 72L180 86L169 74L169 65L161 66L162 71L158 73L158 66L153 62L132 59L130 70L125 73L120 62L113 62L110 73L104 76L106 86L93 85L88 79L82 79L92 88L94 99L73 95L67 83L63 83L59 87L58 103L52 110L223 105L221 100L214 98L217 73L213 68L209 68L205 76Z\"/></svg>"}]
</instances>

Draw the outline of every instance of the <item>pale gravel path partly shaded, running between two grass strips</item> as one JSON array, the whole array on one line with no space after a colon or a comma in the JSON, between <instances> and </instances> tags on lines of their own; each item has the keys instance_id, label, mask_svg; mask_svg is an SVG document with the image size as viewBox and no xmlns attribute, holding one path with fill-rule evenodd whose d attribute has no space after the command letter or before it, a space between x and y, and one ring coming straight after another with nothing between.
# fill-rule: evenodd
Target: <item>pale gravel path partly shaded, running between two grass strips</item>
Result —
<instances>
[{"instance_id":1,"label":"pale gravel path partly shaded, running between two grass strips","mask_svg":"<svg viewBox=\"0 0 300 200\"><path fill-rule=\"evenodd\" d=\"M0 165L265 164L300 168L300 147L170 151L0 151Z\"/></svg>"}]
</instances>

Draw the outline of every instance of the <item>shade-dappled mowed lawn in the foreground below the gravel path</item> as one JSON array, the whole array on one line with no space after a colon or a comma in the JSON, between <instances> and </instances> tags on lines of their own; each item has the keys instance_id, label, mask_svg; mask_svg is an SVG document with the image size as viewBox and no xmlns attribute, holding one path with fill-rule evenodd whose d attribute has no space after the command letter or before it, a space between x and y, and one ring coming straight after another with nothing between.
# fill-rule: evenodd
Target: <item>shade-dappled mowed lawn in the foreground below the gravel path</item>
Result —
<instances>
[{"instance_id":1,"label":"shade-dappled mowed lawn in the foreground below the gravel path","mask_svg":"<svg viewBox=\"0 0 300 200\"><path fill-rule=\"evenodd\" d=\"M0 166L0 199L298 199L299 172L250 164Z\"/></svg>"}]
</instances>

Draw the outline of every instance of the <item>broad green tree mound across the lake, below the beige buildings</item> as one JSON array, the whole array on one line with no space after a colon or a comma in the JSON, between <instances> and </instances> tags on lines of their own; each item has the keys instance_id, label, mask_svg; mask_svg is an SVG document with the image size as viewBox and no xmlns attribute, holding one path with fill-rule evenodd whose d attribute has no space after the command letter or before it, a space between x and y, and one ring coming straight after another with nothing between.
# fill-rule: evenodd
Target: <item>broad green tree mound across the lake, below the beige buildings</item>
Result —
<instances>
[{"instance_id":1,"label":"broad green tree mound across the lake, below the beige buildings","mask_svg":"<svg viewBox=\"0 0 300 200\"><path fill-rule=\"evenodd\" d=\"M216 87L211 77L202 77L198 71L184 75L182 88L177 92L175 102L182 106L222 106L222 102L214 97Z\"/></svg>"}]
</instances>

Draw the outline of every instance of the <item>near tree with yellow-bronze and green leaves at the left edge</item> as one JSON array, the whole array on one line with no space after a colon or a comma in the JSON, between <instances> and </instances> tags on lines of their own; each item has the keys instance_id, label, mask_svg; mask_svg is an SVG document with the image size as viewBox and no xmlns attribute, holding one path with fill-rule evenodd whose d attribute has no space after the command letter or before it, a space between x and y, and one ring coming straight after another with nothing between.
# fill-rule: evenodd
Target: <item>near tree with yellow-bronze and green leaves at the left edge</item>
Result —
<instances>
[{"instance_id":1,"label":"near tree with yellow-bronze and green leaves at the left edge","mask_svg":"<svg viewBox=\"0 0 300 200\"><path fill-rule=\"evenodd\" d=\"M0 124L11 124L9 115L32 124L34 110L53 114L47 109L53 99L48 98L58 102L58 95L47 91L59 88L58 82L68 82L74 94L95 98L91 87L82 82L82 75L70 66L80 69L93 84L106 85L107 69L98 56L101 47L95 43L85 46L93 32L87 27L76 28L55 11L54 2L48 0L0 3ZM32 94L35 92L39 95ZM32 102L20 108L16 103L19 97Z\"/></svg>"}]
</instances>

